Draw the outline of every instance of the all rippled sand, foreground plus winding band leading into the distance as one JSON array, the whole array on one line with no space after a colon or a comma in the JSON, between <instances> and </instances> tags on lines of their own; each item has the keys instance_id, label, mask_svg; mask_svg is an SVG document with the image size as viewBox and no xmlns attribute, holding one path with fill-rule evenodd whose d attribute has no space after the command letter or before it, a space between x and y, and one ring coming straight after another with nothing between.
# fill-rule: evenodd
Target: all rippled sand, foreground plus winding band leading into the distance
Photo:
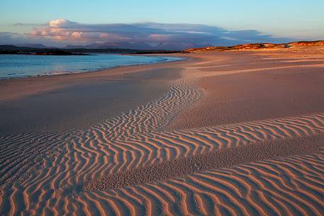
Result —
<instances>
[{"instance_id":1,"label":"all rippled sand, foreground plus winding band leading into the distance","mask_svg":"<svg viewBox=\"0 0 324 216\"><path fill-rule=\"evenodd\" d=\"M0 137L1 214L324 215L324 108L170 129L204 97L199 79L323 62L214 69L233 62L213 59L181 65L163 97L89 130Z\"/></svg>"}]
</instances>

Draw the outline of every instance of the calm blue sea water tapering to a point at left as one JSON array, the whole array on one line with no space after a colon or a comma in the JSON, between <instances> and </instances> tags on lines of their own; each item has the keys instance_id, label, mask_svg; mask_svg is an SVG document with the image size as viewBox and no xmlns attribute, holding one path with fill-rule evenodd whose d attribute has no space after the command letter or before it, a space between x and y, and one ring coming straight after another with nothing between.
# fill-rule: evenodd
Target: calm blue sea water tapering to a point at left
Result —
<instances>
[{"instance_id":1,"label":"calm blue sea water tapering to a point at left","mask_svg":"<svg viewBox=\"0 0 324 216\"><path fill-rule=\"evenodd\" d=\"M177 61L180 57L134 55L0 55L0 79L93 72L119 66Z\"/></svg>"}]
</instances>

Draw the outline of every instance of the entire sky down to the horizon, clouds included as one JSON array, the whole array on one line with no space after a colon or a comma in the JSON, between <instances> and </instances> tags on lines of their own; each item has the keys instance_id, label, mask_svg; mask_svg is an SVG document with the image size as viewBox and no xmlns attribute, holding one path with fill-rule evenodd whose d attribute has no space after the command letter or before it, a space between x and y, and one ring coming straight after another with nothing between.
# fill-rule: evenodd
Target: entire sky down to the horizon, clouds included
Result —
<instances>
[{"instance_id":1,"label":"entire sky down to the horizon, clouds included","mask_svg":"<svg viewBox=\"0 0 324 216\"><path fill-rule=\"evenodd\" d=\"M1 0L0 44L234 45L324 39L323 0Z\"/></svg>"}]
</instances>

